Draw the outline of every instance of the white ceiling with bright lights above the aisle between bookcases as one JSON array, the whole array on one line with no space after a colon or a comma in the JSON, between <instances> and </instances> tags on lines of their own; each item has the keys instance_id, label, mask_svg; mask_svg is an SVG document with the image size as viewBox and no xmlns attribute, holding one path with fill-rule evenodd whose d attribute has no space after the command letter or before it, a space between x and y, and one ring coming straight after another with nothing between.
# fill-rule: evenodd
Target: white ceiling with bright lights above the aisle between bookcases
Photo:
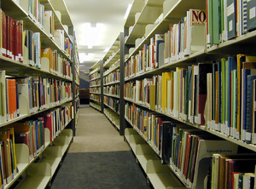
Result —
<instances>
[{"instance_id":1,"label":"white ceiling with bright lights above the aisle between bookcases","mask_svg":"<svg viewBox=\"0 0 256 189\"><path fill-rule=\"evenodd\" d=\"M65 0L67 9L73 20L79 46L79 54L88 54L87 60L81 62L80 71L88 72L88 68L101 60L119 32L124 30L125 11L132 0ZM87 23L87 24L86 24ZM88 34L88 23L96 25L100 30ZM97 37L93 34L96 33ZM93 43L88 49L88 41Z\"/></svg>"}]
</instances>

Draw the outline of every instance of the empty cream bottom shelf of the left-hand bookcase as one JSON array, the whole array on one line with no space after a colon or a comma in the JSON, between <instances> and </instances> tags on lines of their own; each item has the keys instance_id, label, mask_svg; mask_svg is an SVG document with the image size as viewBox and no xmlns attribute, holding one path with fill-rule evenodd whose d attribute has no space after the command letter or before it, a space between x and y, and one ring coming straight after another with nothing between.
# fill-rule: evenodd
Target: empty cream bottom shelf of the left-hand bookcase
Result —
<instances>
[{"instance_id":1,"label":"empty cream bottom shelf of the left-hand bookcase","mask_svg":"<svg viewBox=\"0 0 256 189\"><path fill-rule=\"evenodd\" d=\"M64 129L47 147L38 163L32 163L24 174L24 179L15 188L45 188L55 174L61 159L73 139L73 130Z\"/></svg>"}]
</instances>

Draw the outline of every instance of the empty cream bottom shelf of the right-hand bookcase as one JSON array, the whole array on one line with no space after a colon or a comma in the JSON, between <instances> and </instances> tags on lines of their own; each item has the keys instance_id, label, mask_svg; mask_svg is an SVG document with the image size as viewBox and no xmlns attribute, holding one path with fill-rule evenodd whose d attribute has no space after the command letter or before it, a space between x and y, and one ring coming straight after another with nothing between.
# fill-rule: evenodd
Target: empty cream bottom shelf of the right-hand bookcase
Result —
<instances>
[{"instance_id":1,"label":"empty cream bottom shelf of the right-hand bookcase","mask_svg":"<svg viewBox=\"0 0 256 189\"><path fill-rule=\"evenodd\" d=\"M168 165L161 163L160 158L155 154L153 149L148 146L143 138L137 134L136 130L126 128L125 140L131 146L131 150L137 157L138 162L142 165L145 174L148 176L152 186L155 189L185 189L182 182L177 179L176 175Z\"/></svg>"}]
</instances>

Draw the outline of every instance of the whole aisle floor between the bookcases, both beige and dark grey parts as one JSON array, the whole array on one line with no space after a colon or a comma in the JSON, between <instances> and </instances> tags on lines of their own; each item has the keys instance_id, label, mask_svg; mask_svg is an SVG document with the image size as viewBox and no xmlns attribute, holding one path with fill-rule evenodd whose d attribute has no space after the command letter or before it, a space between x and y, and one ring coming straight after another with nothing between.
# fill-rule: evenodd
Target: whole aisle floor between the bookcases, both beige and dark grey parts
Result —
<instances>
[{"instance_id":1,"label":"whole aisle floor between the bookcases, both beige and dark grey parts","mask_svg":"<svg viewBox=\"0 0 256 189\"><path fill-rule=\"evenodd\" d=\"M149 189L143 170L108 118L79 109L79 123L51 189Z\"/></svg>"}]
</instances>

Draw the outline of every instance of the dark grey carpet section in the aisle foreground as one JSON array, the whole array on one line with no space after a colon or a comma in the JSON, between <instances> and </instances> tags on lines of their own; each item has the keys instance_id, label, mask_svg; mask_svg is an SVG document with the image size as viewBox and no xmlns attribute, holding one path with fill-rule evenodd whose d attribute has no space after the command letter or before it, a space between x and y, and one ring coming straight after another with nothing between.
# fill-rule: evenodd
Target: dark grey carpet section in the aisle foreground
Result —
<instances>
[{"instance_id":1,"label":"dark grey carpet section in the aisle foreground","mask_svg":"<svg viewBox=\"0 0 256 189\"><path fill-rule=\"evenodd\" d=\"M72 170L72 171L71 171ZM130 151L68 153L51 189L143 189L145 176Z\"/></svg>"}]
</instances>

